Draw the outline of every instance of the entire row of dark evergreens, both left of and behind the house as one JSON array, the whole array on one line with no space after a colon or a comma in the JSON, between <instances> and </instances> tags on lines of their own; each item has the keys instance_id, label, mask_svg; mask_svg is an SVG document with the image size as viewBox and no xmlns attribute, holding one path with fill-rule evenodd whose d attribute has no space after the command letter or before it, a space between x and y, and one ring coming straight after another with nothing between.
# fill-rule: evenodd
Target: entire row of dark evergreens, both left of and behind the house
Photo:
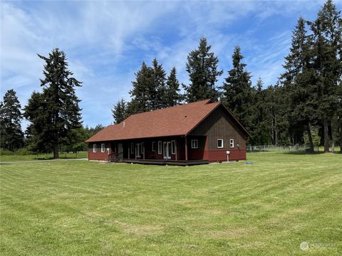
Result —
<instances>
[{"instance_id":1,"label":"entire row of dark evergreens, both left of and behind the house","mask_svg":"<svg viewBox=\"0 0 342 256\"><path fill-rule=\"evenodd\" d=\"M264 87L252 75L239 46L232 54L232 68L224 82L217 82L224 71L206 38L187 55L189 84L180 84L177 70L170 73L155 58L151 65L142 63L135 73L130 101L118 101L113 107L115 123L130 114L172 107L187 102L212 99L221 101L251 134L252 145L307 144L339 145L342 151L342 20L341 11L331 0L318 11L314 21L299 18L292 33L291 48L284 60L284 73L274 85ZM24 112L14 90L0 103L1 148L14 150L24 145L32 151L77 150L102 126L84 128L76 87L81 82L68 70L66 55L54 49L45 61L42 92L33 92ZM182 90L181 90L182 89ZM26 137L21 118L29 121Z\"/></svg>"}]
</instances>

